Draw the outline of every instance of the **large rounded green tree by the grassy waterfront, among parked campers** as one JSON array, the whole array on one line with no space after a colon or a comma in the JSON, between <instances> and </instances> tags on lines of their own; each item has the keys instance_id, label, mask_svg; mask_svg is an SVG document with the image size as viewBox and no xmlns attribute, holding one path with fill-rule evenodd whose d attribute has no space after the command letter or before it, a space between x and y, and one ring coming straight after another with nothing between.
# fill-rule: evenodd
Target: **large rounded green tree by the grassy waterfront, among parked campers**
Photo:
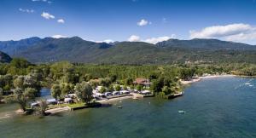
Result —
<instances>
[{"instance_id":1,"label":"large rounded green tree by the grassy waterfront, among parked campers","mask_svg":"<svg viewBox=\"0 0 256 138\"><path fill-rule=\"evenodd\" d=\"M74 89L75 89L76 95L80 100L84 101L86 104L90 104L90 101L93 99L92 97L93 89L89 83L86 83L86 82L77 83Z\"/></svg>"}]
</instances>

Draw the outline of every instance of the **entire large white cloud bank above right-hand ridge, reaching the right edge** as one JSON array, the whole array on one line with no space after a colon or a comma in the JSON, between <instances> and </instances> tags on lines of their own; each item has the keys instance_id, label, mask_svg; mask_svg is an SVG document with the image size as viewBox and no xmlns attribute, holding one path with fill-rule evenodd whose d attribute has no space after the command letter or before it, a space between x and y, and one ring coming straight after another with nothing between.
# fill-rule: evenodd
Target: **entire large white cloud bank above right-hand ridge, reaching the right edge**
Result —
<instances>
[{"instance_id":1,"label":"entire large white cloud bank above right-hand ridge, reaching the right edge","mask_svg":"<svg viewBox=\"0 0 256 138\"><path fill-rule=\"evenodd\" d=\"M199 32L190 31L190 38L218 38L226 41L248 43L256 40L256 27L242 23L208 26Z\"/></svg>"}]
</instances>

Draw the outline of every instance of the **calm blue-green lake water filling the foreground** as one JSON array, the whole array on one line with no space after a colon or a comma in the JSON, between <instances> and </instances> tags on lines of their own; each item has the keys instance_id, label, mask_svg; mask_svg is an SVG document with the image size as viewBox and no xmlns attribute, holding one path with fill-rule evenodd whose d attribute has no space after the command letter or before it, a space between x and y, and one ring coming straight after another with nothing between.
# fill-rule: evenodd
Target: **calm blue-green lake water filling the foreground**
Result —
<instances>
[{"instance_id":1,"label":"calm blue-green lake water filling the foreground","mask_svg":"<svg viewBox=\"0 0 256 138\"><path fill-rule=\"evenodd\" d=\"M114 104L123 108L0 118L0 137L256 137L256 79L252 78L207 78L171 101L144 98ZM0 105L0 116L16 108Z\"/></svg>"}]
</instances>

